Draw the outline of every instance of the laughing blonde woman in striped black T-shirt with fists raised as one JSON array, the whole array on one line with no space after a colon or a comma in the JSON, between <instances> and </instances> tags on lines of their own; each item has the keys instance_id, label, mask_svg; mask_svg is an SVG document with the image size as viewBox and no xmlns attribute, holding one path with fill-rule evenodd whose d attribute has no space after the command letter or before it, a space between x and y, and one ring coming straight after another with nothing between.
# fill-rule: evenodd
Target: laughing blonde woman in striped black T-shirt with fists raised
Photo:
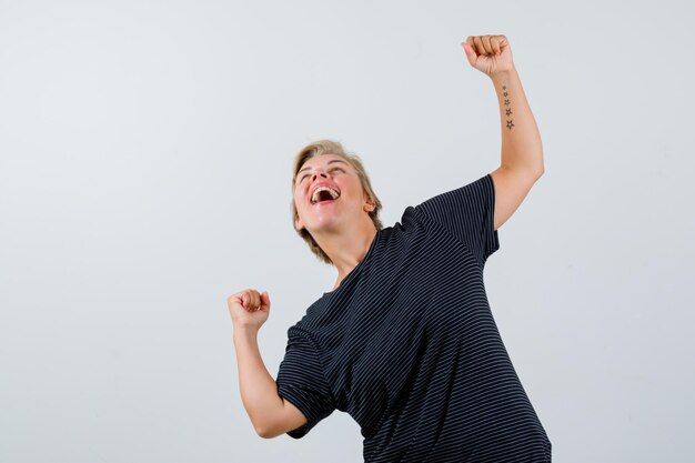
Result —
<instances>
[{"instance_id":1,"label":"laughing blonde woman in striped black T-shirt with fists raised","mask_svg":"<svg viewBox=\"0 0 695 463\"><path fill-rule=\"evenodd\" d=\"M483 284L497 229L543 174L541 138L507 39L469 37L462 46L498 97L495 171L407 207L383 228L356 155L329 140L298 154L294 227L338 276L288 330L276 381L256 344L268 292L228 299L242 400L259 435L300 439L340 410L360 424L365 462L551 461Z\"/></svg>"}]
</instances>

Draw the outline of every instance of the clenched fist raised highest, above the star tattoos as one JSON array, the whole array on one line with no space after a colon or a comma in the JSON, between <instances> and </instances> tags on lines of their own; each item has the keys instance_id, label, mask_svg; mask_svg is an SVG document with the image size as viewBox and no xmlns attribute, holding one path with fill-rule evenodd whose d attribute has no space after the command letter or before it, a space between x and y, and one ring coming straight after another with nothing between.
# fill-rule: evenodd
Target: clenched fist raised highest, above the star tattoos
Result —
<instances>
[{"instance_id":1,"label":"clenched fist raised highest, above the star tattoos","mask_svg":"<svg viewBox=\"0 0 695 463\"><path fill-rule=\"evenodd\" d=\"M512 49L504 36L469 36L461 46L471 66L491 78L514 69Z\"/></svg>"}]
</instances>

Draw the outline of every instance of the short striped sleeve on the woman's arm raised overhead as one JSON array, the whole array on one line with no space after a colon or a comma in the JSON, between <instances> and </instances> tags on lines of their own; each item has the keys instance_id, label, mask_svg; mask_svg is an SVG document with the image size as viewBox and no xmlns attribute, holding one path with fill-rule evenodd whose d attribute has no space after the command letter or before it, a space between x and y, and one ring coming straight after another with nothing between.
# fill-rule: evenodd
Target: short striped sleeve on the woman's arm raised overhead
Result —
<instances>
[{"instance_id":1,"label":"short striped sleeve on the woman's arm raised overhead","mask_svg":"<svg viewBox=\"0 0 695 463\"><path fill-rule=\"evenodd\" d=\"M500 249L494 230L495 188L490 173L415 207L461 240L481 268Z\"/></svg>"}]
</instances>

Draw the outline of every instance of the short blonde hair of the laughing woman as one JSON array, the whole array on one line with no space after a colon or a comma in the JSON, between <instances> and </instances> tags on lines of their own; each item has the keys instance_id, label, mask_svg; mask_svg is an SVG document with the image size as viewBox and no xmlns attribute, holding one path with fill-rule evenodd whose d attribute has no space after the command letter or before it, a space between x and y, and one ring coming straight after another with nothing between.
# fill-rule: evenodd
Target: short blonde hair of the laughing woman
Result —
<instances>
[{"instance_id":1,"label":"short blonde hair of the laughing woman","mask_svg":"<svg viewBox=\"0 0 695 463\"><path fill-rule=\"evenodd\" d=\"M319 246L319 243L316 243L316 241L313 239L311 233L309 233L306 228L302 230L298 230L296 228L296 219L299 218L296 204L294 203L296 174L304 164L304 162L306 162L306 160L322 154L338 154L354 168L357 177L360 178L360 183L362 183L363 192L366 193L367 197L374 202L374 209L369 212L370 219L372 219L372 222L374 222L374 227L376 228L376 230L381 230L384 227L379 219L379 211L381 211L381 201L379 200L379 198L376 198L376 194L372 189L370 177L366 173L366 170L364 169L362 160L359 155L346 152L340 142L333 140L318 140L302 148L300 152L296 153L296 155L294 157L294 162L292 165L292 228L306 242L306 244L309 244L309 249L311 250L311 252L316 254L320 261L333 264L331 258L329 258L329 255L323 252L321 246Z\"/></svg>"}]
</instances>

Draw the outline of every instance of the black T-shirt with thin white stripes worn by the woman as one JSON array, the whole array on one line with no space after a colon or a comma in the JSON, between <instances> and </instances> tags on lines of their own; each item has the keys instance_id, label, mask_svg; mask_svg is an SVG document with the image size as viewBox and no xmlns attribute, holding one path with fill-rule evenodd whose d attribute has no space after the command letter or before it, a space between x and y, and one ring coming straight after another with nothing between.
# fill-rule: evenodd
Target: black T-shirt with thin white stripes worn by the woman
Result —
<instances>
[{"instance_id":1,"label":"black T-shirt with thin white stripes worn by the woman","mask_svg":"<svg viewBox=\"0 0 695 463\"><path fill-rule=\"evenodd\" d=\"M486 174L377 231L288 330L278 393L308 419L288 435L340 410L361 427L365 462L551 461L485 294L493 212Z\"/></svg>"}]
</instances>

